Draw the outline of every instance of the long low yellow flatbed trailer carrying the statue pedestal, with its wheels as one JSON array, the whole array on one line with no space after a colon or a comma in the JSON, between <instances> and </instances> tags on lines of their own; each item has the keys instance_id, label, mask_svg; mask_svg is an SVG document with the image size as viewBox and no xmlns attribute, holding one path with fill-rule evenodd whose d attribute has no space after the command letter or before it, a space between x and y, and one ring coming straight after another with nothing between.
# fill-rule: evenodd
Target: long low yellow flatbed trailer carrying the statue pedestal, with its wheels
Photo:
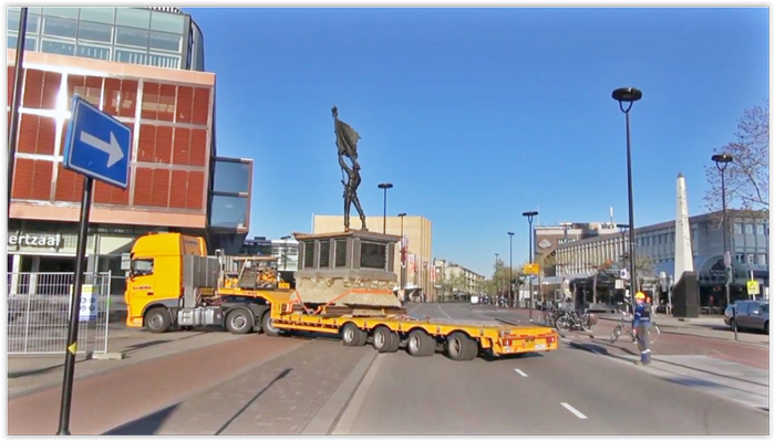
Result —
<instances>
[{"instance_id":1,"label":"long low yellow flatbed trailer carrying the statue pedestal, with its wheels","mask_svg":"<svg viewBox=\"0 0 775 441\"><path fill-rule=\"evenodd\" d=\"M279 293L278 293L279 294ZM289 293L292 294L292 293ZM277 296L277 295L276 295ZM279 296L277 296L279 297ZM388 347L378 348L381 351L395 351L400 343L410 346L410 354L415 356L428 356L432 353L412 353L412 342L425 338L425 344L430 344L432 338L435 344L444 345L448 355L456 354L451 358L472 359L482 350L494 356L518 355L526 353L544 353L559 348L559 335L551 328L544 326L514 326L496 325L489 323L454 322L418 319L406 315L385 316L358 316L327 314L326 308L311 312L298 300L291 300L289 295L287 302L271 302L271 327L285 330L301 330L310 333L322 333L329 335L341 335L348 346L363 346L366 338L372 338L372 344L378 348L380 336L388 336L396 339ZM279 298L277 298L279 300ZM294 305L297 306L294 308ZM302 311L298 309L301 305ZM266 332L266 329L265 329ZM360 334L348 339L348 333ZM279 333L268 333L270 335ZM424 334L427 337L423 337ZM476 351L473 345L465 340L476 343ZM409 340L409 342L407 342ZM468 345L466 354L457 356L454 345ZM434 347L435 351L436 347Z\"/></svg>"}]
</instances>

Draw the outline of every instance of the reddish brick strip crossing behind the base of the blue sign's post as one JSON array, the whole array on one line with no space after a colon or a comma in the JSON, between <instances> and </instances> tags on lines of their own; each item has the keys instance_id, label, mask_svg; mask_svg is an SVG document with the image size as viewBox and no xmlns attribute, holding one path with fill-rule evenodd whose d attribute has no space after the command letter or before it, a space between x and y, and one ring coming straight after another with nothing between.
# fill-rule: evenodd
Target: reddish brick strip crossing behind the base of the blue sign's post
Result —
<instances>
[{"instance_id":1,"label":"reddish brick strip crossing behind the base of the blue sign's post","mask_svg":"<svg viewBox=\"0 0 775 441\"><path fill-rule=\"evenodd\" d=\"M248 335L76 379L71 432L102 434L240 376L307 343ZM61 387L53 387L9 400L8 434L54 434L59 427L60 395Z\"/></svg>"}]
</instances>

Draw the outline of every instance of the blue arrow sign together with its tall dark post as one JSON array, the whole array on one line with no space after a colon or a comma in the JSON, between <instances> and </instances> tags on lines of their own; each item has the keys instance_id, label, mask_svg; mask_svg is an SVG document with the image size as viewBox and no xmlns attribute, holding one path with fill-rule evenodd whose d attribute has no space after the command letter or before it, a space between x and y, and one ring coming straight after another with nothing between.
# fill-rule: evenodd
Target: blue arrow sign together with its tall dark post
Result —
<instances>
[{"instance_id":1,"label":"blue arrow sign together with its tall dark post","mask_svg":"<svg viewBox=\"0 0 775 441\"><path fill-rule=\"evenodd\" d=\"M64 139L63 166L85 177L81 199L81 224L75 252L75 280L70 304L70 325L64 358L62 405L59 435L70 434L70 406L73 396L73 375L78 353L79 316L83 288L89 214L92 208L94 180L125 189L130 182L130 151L132 132L111 115L100 111L78 95L73 96L70 122Z\"/></svg>"}]
</instances>

